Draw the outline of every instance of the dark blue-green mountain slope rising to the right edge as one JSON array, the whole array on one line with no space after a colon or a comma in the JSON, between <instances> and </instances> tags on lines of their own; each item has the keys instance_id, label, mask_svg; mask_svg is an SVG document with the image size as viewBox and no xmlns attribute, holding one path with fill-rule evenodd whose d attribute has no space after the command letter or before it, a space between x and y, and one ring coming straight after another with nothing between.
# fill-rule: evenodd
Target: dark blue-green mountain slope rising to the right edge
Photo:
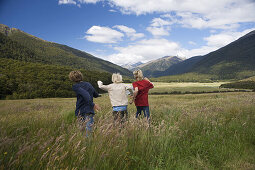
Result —
<instances>
[{"instance_id":1,"label":"dark blue-green mountain slope rising to the right edge","mask_svg":"<svg viewBox=\"0 0 255 170\"><path fill-rule=\"evenodd\" d=\"M255 31L204 56L171 66L156 76L196 73L217 79L243 79L255 75Z\"/></svg>"}]
</instances>

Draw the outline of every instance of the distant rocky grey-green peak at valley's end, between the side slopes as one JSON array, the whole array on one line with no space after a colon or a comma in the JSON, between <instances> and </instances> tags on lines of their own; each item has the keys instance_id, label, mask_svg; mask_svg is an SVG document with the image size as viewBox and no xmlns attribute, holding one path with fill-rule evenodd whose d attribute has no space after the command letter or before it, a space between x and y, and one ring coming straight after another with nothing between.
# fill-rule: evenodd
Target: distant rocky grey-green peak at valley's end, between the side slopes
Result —
<instances>
[{"instance_id":1,"label":"distant rocky grey-green peak at valley's end, between the side slopes","mask_svg":"<svg viewBox=\"0 0 255 170\"><path fill-rule=\"evenodd\" d=\"M141 64L137 66L137 68L141 69L145 76L154 77L157 72L165 71L181 61L183 61L183 59L177 56L165 56L157 60Z\"/></svg>"}]
</instances>

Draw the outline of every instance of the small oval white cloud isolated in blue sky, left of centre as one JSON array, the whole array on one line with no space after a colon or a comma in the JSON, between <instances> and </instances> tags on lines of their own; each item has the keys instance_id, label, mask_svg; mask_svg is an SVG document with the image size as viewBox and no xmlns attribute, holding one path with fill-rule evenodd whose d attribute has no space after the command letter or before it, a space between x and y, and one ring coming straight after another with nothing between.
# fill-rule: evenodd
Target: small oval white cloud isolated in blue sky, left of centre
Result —
<instances>
[{"instance_id":1,"label":"small oval white cloud isolated in blue sky, left of centre","mask_svg":"<svg viewBox=\"0 0 255 170\"><path fill-rule=\"evenodd\" d=\"M86 32L86 38L88 41L97 43L117 43L122 40L124 36L121 32L113 30L109 27L92 26Z\"/></svg>"}]
</instances>

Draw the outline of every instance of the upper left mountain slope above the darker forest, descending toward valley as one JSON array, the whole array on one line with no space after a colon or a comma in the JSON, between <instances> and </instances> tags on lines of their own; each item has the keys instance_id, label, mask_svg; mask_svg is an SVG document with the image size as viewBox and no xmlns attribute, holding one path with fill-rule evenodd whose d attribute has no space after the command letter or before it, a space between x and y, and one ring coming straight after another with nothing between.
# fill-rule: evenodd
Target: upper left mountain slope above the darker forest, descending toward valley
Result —
<instances>
[{"instance_id":1,"label":"upper left mountain slope above the darker forest, descending toward valley","mask_svg":"<svg viewBox=\"0 0 255 170\"><path fill-rule=\"evenodd\" d=\"M85 69L100 72L119 72L122 75L131 76L132 73L111 62L96 58L86 52L37 38L16 28L9 28L0 24L1 39L8 37L14 43L23 46L33 53L26 56L26 60L43 64L70 66L77 69ZM2 40L3 41L3 40ZM10 58L12 56L9 56ZM19 59L22 60L22 59Z\"/></svg>"}]
</instances>

